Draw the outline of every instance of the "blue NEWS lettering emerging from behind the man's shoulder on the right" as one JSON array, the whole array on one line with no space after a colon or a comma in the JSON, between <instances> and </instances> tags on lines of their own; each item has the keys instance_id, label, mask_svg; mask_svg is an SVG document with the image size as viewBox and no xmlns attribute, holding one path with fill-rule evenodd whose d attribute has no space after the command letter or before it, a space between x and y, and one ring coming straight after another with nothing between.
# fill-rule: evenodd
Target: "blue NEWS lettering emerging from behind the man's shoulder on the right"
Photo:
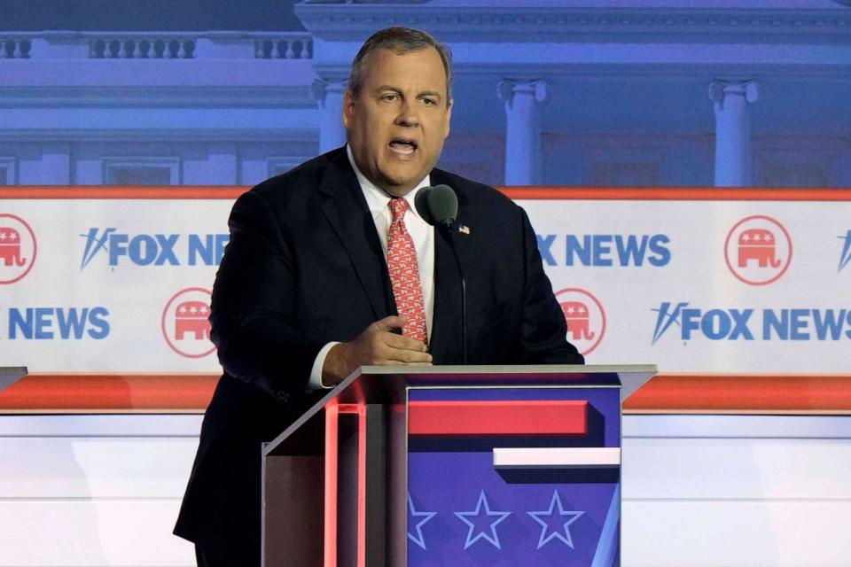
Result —
<instances>
[{"instance_id":1,"label":"blue NEWS lettering emerging from behind the man's shoulder on the right","mask_svg":"<svg viewBox=\"0 0 851 567\"><path fill-rule=\"evenodd\" d=\"M646 263L660 268L671 261L671 239L664 234L568 234L563 239L556 234L539 234L537 238L538 251L548 266L563 262L565 266L611 268Z\"/></svg>"}]
</instances>

